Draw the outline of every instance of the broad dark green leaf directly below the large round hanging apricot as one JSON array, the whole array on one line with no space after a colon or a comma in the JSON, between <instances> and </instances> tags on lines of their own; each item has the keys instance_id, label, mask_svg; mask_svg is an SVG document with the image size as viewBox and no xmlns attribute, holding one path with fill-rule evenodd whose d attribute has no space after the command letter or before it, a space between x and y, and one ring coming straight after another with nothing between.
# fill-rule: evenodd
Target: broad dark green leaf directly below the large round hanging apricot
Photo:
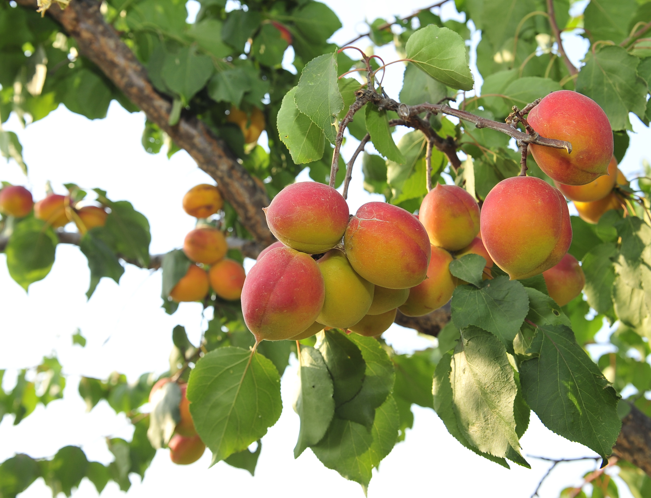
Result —
<instances>
[{"instance_id":1,"label":"broad dark green leaf directly below the large round hanging apricot","mask_svg":"<svg viewBox=\"0 0 651 498\"><path fill-rule=\"evenodd\" d=\"M459 286L452 294L452 321L457 329L475 325L495 334L506 347L529 312L529 298L518 280L498 276L482 287Z\"/></svg>"}]
</instances>

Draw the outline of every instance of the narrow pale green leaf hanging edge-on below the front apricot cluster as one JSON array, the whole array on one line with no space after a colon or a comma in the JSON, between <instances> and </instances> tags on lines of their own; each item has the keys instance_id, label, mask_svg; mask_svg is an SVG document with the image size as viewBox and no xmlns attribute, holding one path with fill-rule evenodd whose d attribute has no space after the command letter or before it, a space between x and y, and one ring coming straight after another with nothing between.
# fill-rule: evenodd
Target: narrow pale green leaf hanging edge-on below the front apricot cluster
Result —
<instances>
[{"instance_id":1,"label":"narrow pale green leaf hanging edge-on below the front apricot cluster","mask_svg":"<svg viewBox=\"0 0 651 498\"><path fill-rule=\"evenodd\" d=\"M318 349L305 345L301 347L298 375L294 411L301 418L301 429L294 458L298 458L305 448L321 441L335 415L332 379Z\"/></svg>"}]
</instances>

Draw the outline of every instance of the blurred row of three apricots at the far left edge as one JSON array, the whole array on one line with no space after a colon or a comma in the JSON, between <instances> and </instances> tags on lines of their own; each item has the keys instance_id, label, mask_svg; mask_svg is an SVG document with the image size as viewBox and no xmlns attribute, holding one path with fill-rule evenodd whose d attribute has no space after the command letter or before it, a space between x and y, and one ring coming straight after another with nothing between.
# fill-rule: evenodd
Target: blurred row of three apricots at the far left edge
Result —
<instances>
[{"instance_id":1,"label":"blurred row of three apricots at the far left edge","mask_svg":"<svg viewBox=\"0 0 651 498\"><path fill-rule=\"evenodd\" d=\"M104 226L107 212L103 207L84 206L76 208L70 204L68 196L49 194L34 203L31 192L20 185L9 185L0 190L0 212L7 216L23 218L34 209L38 220L47 222L53 228L66 226L74 221L82 233L91 228Z\"/></svg>"}]
</instances>

